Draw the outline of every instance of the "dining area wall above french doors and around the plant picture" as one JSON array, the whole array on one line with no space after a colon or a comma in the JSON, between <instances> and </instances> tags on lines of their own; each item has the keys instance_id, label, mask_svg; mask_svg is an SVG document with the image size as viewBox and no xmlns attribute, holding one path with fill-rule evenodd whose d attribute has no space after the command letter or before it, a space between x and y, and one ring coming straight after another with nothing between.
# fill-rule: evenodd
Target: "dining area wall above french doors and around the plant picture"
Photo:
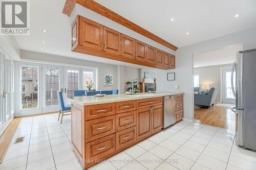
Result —
<instances>
[{"instance_id":1,"label":"dining area wall above french doors and around the plant picture","mask_svg":"<svg viewBox=\"0 0 256 170\"><path fill-rule=\"evenodd\" d=\"M89 67L97 67L99 71L99 81L98 81L98 90L113 90L118 89L118 68L117 65L88 61L88 60L80 60L69 57L56 56L45 53L37 53L31 51L20 51L20 56L22 59L26 60L35 60L38 63L41 62L53 62L60 64L71 64L71 65L80 65L80 66L89 66ZM113 74L114 76L114 85L113 86L104 86L103 85L103 74Z\"/></svg>"}]
</instances>

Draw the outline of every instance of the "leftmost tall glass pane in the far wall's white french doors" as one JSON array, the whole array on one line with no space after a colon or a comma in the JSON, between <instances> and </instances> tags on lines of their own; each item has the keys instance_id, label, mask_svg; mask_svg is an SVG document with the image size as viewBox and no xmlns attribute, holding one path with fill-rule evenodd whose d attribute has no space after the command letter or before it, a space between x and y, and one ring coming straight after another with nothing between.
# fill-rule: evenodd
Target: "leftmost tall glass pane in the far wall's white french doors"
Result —
<instances>
[{"instance_id":1,"label":"leftmost tall glass pane in the far wall's white french doors","mask_svg":"<svg viewBox=\"0 0 256 170\"><path fill-rule=\"evenodd\" d=\"M38 107L38 67L21 66L21 109ZM24 88L25 86L25 88ZM25 89L25 90L24 90Z\"/></svg>"}]
</instances>

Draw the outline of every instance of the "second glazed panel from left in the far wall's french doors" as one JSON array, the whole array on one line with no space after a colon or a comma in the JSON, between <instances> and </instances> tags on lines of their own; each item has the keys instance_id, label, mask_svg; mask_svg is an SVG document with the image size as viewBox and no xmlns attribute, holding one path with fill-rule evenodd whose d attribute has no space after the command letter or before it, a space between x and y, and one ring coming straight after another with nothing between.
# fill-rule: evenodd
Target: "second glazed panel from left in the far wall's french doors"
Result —
<instances>
[{"instance_id":1,"label":"second glazed panel from left in the far wall's french doors","mask_svg":"<svg viewBox=\"0 0 256 170\"><path fill-rule=\"evenodd\" d=\"M63 86L63 67L56 65L43 65L43 99L44 107L42 112L56 111L58 107L57 91Z\"/></svg>"}]
</instances>

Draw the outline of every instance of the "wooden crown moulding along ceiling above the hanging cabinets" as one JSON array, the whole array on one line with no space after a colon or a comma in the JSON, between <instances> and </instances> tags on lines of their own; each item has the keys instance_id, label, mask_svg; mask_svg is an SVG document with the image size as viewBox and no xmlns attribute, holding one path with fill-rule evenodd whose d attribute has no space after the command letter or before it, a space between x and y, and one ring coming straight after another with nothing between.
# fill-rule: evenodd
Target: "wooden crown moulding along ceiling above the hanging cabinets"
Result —
<instances>
[{"instance_id":1,"label":"wooden crown moulding along ceiling above the hanging cabinets","mask_svg":"<svg viewBox=\"0 0 256 170\"><path fill-rule=\"evenodd\" d=\"M119 23L120 25L129 28L147 38L150 38L164 46L167 46L168 48L171 48L172 50L176 51L178 49L177 46L165 41L164 39L156 36L155 34L143 29L142 27L136 25L135 23L133 23L132 21L118 15L117 13L111 11L108 8L105 8L104 6L100 5L99 3L96 3L93 0L67 0L66 4L62 10L62 13L70 16L71 12L73 11L75 4L79 4L85 8L88 8L106 18L109 18L117 23Z\"/></svg>"}]
</instances>

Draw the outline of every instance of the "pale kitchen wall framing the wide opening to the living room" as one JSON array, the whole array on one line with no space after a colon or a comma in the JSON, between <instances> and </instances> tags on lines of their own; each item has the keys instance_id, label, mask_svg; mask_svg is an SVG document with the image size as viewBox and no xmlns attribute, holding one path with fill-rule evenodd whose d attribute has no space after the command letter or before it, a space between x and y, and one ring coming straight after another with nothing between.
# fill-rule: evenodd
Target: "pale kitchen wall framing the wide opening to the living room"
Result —
<instances>
[{"instance_id":1,"label":"pale kitchen wall framing the wide opening to the living room","mask_svg":"<svg viewBox=\"0 0 256 170\"><path fill-rule=\"evenodd\" d=\"M184 95L184 118L194 119L194 62L193 54L203 53L211 50L217 50L229 45L243 44L243 50L256 48L256 28L244 30L241 32L225 35L222 37L210 39L200 43L188 45L179 48L176 51L178 67L177 84L181 85ZM165 77L165 76L164 76ZM163 81L163 84L170 84ZM166 87L165 87L166 88Z\"/></svg>"}]
</instances>

